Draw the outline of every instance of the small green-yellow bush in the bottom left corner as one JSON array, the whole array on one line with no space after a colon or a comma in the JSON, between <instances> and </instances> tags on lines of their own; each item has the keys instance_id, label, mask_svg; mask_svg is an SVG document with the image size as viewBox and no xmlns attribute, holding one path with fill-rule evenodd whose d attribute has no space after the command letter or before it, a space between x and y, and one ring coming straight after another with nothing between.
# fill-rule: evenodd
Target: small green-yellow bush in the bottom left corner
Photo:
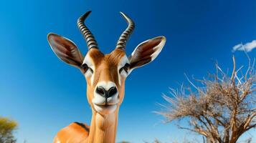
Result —
<instances>
[{"instance_id":1,"label":"small green-yellow bush in the bottom left corner","mask_svg":"<svg viewBox=\"0 0 256 143\"><path fill-rule=\"evenodd\" d=\"M6 117L0 117L0 143L14 143L14 131L16 130L17 123L14 120Z\"/></svg>"}]
</instances>

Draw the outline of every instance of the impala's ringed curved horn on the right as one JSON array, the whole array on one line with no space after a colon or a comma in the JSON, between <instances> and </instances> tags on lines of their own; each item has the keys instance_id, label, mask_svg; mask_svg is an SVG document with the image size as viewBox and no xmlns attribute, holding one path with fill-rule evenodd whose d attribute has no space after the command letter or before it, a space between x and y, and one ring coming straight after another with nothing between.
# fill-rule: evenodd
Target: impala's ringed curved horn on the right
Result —
<instances>
[{"instance_id":1,"label":"impala's ringed curved horn on the right","mask_svg":"<svg viewBox=\"0 0 256 143\"><path fill-rule=\"evenodd\" d=\"M123 12L120 12L120 14L125 18L125 21L128 24L128 27L123 31L123 34L120 35L120 38L118 39L118 43L116 44L116 49L123 49L125 50L126 42L128 41L129 36L133 32L133 29L135 28L134 22Z\"/></svg>"}]
</instances>

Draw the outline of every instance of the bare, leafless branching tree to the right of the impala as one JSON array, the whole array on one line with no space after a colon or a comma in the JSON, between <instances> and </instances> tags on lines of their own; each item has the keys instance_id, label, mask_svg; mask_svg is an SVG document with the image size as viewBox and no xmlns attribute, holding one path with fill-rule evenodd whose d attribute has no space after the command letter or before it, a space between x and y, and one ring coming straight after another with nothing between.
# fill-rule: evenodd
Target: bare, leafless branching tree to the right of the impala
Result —
<instances>
[{"instance_id":1,"label":"bare, leafless branching tree to the right of the impala","mask_svg":"<svg viewBox=\"0 0 256 143\"><path fill-rule=\"evenodd\" d=\"M195 79L195 85L188 78L191 87L171 89L173 97L163 95L170 103L163 112L167 122L188 119L189 126L181 127L207 138L210 143L235 143L242 134L256 127L256 74L255 61L245 73L242 67L227 75L217 65L217 73L208 79ZM250 142L248 140L247 142Z\"/></svg>"}]
</instances>

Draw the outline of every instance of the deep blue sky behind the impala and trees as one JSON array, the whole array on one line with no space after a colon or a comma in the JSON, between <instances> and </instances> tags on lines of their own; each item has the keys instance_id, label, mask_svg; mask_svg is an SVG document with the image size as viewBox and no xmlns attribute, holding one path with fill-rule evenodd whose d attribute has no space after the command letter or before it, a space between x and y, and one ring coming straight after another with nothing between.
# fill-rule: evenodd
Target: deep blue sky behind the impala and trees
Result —
<instances>
[{"instance_id":1,"label":"deep blue sky behind the impala and trees","mask_svg":"<svg viewBox=\"0 0 256 143\"><path fill-rule=\"evenodd\" d=\"M87 26L100 49L108 53L126 24L123 11L136 22L127 54L142 41L166 36L158 58L136 69L126 80L120 107L117 141L181 141L195 134L162 124L153 113L165 103L162 93L177 88L186 78L206 77L214 61L232 67L232 48L256 39L256 1L239 0L78 0L0 1L0 115L19 122L18 142L51 142L54 134L71 122L90 124L85 79L80 71L63 63L47 43L47 34L65 36L87 48L77 18L92 10ZM245 54L235 51L237 63L247 64ZM256 56L256 49L249 55ZM255 134L245 134L251 137Z\"/></svg>"}]
</instances>

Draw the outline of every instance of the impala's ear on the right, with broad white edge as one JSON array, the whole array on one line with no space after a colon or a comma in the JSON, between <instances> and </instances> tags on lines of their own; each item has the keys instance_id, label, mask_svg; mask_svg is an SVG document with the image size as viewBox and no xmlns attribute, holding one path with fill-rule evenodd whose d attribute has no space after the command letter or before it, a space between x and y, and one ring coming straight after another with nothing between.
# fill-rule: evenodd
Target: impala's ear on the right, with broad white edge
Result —
<instances>
[{"instance_id":1,"label":"impala's ear on the right, with broad white edge","mask_svg":"<svg viewBox=\"0 0 256 143\"><path fill-rule=\"evenodd\" d=\"M129 57L130 69L136 69L140 66L144 66L154 59L163 49L166 43L166 38L164 36L157 36L153 39L148 39L139 44L133 53Z\"/></svg>"}]
</instances>

